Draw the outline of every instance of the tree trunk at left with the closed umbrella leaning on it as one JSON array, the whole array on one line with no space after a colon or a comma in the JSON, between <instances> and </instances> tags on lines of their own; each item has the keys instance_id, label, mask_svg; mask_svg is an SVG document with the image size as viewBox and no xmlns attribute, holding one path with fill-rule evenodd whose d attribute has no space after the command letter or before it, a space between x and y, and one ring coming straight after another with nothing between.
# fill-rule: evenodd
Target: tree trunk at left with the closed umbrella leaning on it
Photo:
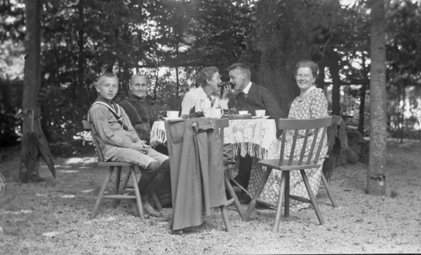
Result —
<instances>
[{"instance_id":1,"label":"tree trunk at left with the closed umbrella leaning on it","mask_svg":"<svg viewBox=\"0 0 421 255\"><path fill-rule=\"evenodd\" d=\"M25 78L23 81L22 97L22 136L29 132L41 132L39 116L41 106L39 104L39 88L41 87L41 0L25 1ZM22 162L27 146L22 143ZM39 158L36 159L32 172L39 173ZM22 163L21 170L22 172ZM26 172L26 171L25 171ZM39 174L38 174L39 175ZM26 182L25 175L19 174L20 180Z\"/></svg>"}]
</instances>

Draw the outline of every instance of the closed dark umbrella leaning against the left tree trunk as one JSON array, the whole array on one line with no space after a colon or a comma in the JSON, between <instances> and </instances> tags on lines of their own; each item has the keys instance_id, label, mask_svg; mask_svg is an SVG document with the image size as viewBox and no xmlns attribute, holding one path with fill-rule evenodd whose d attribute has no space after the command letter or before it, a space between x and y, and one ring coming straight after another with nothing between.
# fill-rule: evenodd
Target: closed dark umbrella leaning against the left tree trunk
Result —
<instances>
[{"instance_id":1,"label":"closed dark umbrella leaning against the left tree trunk","mask_svg":"<svg viewBox=\"0 0 421 255\"><path fill-rule=\"evenodd\" d=\"M28 109L27 111L32 111L32 109ZM22 144L25 146L25 151L23 154L23 163L25 164L26 178L27 180L32 178L32 172L34 172L35 164L38 161L39 157L41 156L44 158L44 161L48 165L48 169L50 170L51 174L55 178L55 167L53 163L53 157L51 156L50 147L48 146L48 142L44 132L41 129L41 123L39 123L39 119L36 121L39 123L39 129L41 132L34 132L34 111L32 111L32 127L31 131L25 133L22 139ZM39 176L37 176L39 178Z\"/></svg>"}]
</instances>

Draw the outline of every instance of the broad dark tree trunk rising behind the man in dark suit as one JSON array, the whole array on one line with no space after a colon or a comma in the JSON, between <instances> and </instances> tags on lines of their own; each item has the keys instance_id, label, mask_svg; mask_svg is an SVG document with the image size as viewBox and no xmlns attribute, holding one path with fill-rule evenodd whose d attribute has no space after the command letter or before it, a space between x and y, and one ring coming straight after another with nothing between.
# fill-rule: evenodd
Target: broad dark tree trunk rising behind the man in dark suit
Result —
<instances>
[{"instance_id":1,"label":"broad dark tree trunk rising behind the man in dark suit","mask_svg":"<svg viewBox=\"0 0 421 255\"><path fill-rule=\"evenodd\" d=\"M318 28L332 25L335 4L323 0L258 2L256 27L239 61L250 66L252 80L274 92L285 113L300 92L294 79L295 64L312 59L314 41L321 36Z\"/></svg>"}]
</instances>

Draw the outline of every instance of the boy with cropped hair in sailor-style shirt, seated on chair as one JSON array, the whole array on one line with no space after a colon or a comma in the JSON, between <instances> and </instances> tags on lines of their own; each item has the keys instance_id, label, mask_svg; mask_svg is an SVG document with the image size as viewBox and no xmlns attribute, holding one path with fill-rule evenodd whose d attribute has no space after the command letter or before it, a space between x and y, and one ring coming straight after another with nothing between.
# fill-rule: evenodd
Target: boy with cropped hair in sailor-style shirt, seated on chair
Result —
<instances>
[{"instance_id":1,"label":"boy with cropped hair in sailor-style shirt, seated on chair","mask_svg":"<svg viewBox=\"0 0 421 255\"><path fill-rule=\"evenodd\" d=\"M119 90L119 80L114 74L102 74L96 83L96 90L99 96L89 109L88 118L104 160L138 165L142 172L138 185L145 212L162 216L153 207L151 194L170 174L168 156L141 140L124 109L112 101Z\"/></svg>"}]
</instances>

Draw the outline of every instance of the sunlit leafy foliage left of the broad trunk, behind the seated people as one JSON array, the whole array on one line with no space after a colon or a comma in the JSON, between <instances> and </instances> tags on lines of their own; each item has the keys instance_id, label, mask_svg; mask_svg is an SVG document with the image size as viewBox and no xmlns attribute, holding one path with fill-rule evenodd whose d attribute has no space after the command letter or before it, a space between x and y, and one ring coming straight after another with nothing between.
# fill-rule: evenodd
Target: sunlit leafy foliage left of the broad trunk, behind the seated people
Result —
<instances>
[{"instance_id":1,"label":"sunlit leafy foliage left of the broad trunk, behind the seated people","mask_svg":"<svg viewBox=\"0 0 421 255\"><path fill-rule=\"evenodd\" d=\"M7 50L1 54L8 57L0 62L1 74L22 78L9 67L22 64L25 5L15 0L0 6ZM52 142L81 130L96 97L95 80L105 71L119 77L117 101L126 97L133 70L142 70L151 74L150 96L163 104L192 87L197 69L223 70L236 62L253 25L250 2L241 0L46 0L42 8L41 122ZM162 73L161 67L169 68Z\"/></svg>"}]
</instances>

